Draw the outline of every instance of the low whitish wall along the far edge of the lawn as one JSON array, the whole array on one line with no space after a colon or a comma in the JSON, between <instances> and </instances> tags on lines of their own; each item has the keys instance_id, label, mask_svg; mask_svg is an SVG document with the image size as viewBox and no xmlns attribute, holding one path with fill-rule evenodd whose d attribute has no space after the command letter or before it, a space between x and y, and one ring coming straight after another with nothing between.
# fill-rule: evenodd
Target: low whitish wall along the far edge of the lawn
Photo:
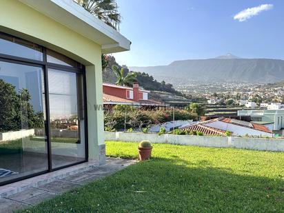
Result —
<instances>
[{"instance_id":1,"label":"low whitish wall along the far edge of the lawn","mask_svg":"<svg viewBox=\"0 0 284 213\"><path fill-rule=\"evenodd\" d=\"M284 139L241 138L234 136L195 136L176 134L143 134L127 132L105 132L105 141L149 140L152 143L171 143L180 145L198 145L213 148L240 148L284 152Z\"/></svg>"}]
</instances>

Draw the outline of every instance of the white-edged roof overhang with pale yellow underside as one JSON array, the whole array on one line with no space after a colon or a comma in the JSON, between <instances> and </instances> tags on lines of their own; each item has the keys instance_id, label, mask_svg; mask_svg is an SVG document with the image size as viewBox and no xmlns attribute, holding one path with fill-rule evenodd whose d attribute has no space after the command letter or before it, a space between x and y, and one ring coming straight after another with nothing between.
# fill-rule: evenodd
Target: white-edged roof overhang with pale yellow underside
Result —
<instances>
[{"instance_id":1,"label":"white-edged roof overhang with pale yellow underside","mask_svg":"<svg viewBox=\"0 0 284 213\"><path fill-rule=\"evenodd\" d=\"M19 0L101 45L102 53L130 50L131 42L72 0Z\"/></svg>"}]
</instances>

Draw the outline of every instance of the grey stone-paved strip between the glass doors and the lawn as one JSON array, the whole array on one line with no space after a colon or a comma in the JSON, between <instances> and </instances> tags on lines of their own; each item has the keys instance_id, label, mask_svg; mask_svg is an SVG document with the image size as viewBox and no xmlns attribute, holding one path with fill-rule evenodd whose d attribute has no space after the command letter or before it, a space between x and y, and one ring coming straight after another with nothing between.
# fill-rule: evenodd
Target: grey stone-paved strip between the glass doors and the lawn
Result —
<instances>
[{"instance_id":1,"label":"grey stone-paved strip between the glass doors and the lawn","mask_svg":"<svg viewBox=\"0 0 284 213\"><path fill-rule=\"evenodd\" d=\"M88 183L90 181L95 181L104 176L109 176L110 174L114 174L123 168L126 168L128 165L135 163L132 160L123 160L123 159L107 159L108 163L105 165L101 165L99 167L93 167L90 164L89 168L86 168L85 171L77 171L76 174L68 173L68 176L63 177L65 174L63 172L72 172L72 168L66 168L65 170L59 170L57 176L52 176L50 179L46 179L50 174L43 174L43 176L37 176L32 179L27 179L23 181L19 181L18 183L12 183L10 186L4 186L2 194L8 194L6 191L10 192L12 189L18 189L21 187L24 191L18 192L16 194L8 195L7 198L0 199L0 213L4 212L12 212L14 210L21 210L30 205L37 205L42 201L52 199L57 194L61 194L68 190L72 190L74 187L79 187ZM91 168L91 169L90 169ZM90 169L90 170L88 170ZM60 176L62 179L60 179ZM45 177L45 179L43 179ZM56 179L57 178L57 179ZM54 180L56 179L56 180ZM53 181L54 180L54 181ZM40 181L41 184L34 184L35 182ZM47 181L52 181L50 183L44 183ZM32 185L33 187L29 187L28 189L24 189L28 185ZM11 188L12 187L12 188ZM1 191L0 191L1 192ZM6 196L3 195L3 196Z\"/></svg>"}]
</instances>

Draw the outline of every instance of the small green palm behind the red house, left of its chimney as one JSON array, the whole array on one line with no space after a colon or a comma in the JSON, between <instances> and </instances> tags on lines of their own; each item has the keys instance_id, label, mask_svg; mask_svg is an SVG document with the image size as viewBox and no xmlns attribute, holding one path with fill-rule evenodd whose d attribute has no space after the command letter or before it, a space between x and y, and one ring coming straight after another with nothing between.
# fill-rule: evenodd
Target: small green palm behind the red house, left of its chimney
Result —
<instances>
[{"instance_id":1,"label":"small green palm behind the red house, left of its chimney","mask_svg":"<svg viewBox=\"0 0 284 213\"><path fill-rule=\"evenodd\" d=\"M132 83L136 81L137 74L135 72L128 72L128 74L124 76L124 68L119 70L119 67L116 65L112 66L112 71L117 77L116 85L132 86Z\"/></svg>"}]
</instances>

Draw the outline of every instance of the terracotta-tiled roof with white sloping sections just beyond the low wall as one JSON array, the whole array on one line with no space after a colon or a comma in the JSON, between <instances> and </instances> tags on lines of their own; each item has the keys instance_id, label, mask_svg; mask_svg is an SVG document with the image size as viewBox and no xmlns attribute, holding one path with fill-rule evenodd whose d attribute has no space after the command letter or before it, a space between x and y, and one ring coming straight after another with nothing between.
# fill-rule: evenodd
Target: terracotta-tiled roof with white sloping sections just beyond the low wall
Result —
<instances>
[{"instance_id":1,"label":"terracotta-tiled roof with white sloping sections just beyond the low wall","mask_svg":"<svg viewBox=\"0 0 284 213\"><path fill-rule=\"evenodd\" d=\"M272 130L265 125L224 117L187 125L183 129L196 130L205 135L225 136L225 132L230 131L232 136L273 136Z\"/></svg>"}]
</instances>

